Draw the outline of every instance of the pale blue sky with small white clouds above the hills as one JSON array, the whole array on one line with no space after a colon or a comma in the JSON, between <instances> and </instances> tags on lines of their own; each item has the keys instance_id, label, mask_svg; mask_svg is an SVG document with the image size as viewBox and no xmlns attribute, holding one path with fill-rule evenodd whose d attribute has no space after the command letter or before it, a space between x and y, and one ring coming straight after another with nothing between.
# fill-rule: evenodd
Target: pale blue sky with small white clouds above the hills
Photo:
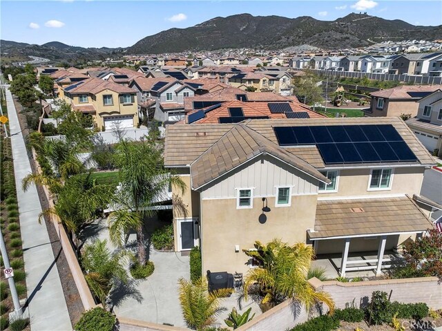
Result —
<instances>
[{"instance_id":1,"label":"pale blue sky with small white clouds above the hills","mask_svg":"<svg viewBox=\"0 0 442 331\"><path fill-rule=\"evenodd\" d=\"M126 47L169 28L194 26L213 17L311 16L333 21L367 11L415 25L441 25L442 1L5 1L0 0L1 39L29 44L61 41L83 47ZM441 36L442 37L442 36Z\"/></svg>"}]
</instances>

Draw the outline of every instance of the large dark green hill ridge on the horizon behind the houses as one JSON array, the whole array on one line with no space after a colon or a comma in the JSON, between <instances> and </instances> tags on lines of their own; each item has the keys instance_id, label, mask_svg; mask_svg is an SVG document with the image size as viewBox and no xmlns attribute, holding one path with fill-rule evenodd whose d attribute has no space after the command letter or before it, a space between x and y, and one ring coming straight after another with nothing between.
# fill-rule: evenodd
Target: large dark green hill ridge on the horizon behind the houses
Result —
<instances>
[{"instance_id":1,"label":"large dark green hill ridge on the horizon behind the houses","mask_svg":"<svg viewBox=\"0 0 442 331\"><path fill-rule=\"evenodd\" d=\"M172 28L145 37L127 49L128 54L172 53L183 50L262 47L287 48L303 44L319 48L368 46L367 39L425 39L442 37L442 26L413 26L399 19L387 20L349 14L335 21L303 16L295 19L250 14L215 17L190 28Z\"/></svg>"}]
</instances>

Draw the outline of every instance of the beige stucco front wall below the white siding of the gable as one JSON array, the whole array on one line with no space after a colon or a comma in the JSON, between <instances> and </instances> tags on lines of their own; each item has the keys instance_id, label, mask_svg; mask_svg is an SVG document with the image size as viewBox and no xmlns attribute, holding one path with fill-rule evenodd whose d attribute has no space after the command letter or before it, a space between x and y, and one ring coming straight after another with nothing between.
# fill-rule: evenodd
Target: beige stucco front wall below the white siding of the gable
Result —
<instances>
[{"instance_id":1,"label":"beige stucco front wall below the white siding of the gable","mask_svg":"<svg viewBox=\"0 0 442 331\"><path fill-rule=\"evenodd\" d=\"M260 223L261 198L253 199L252 209L237 209L236 199L202 200L202 272L247 272L249 258L242 249L253 248L255 240L267 243L273 238L294 244L306 241L306 230L314 226L316 196L292 196L290 207L274 207ZM240 252L235 252L235 245Z\"/></svg>"}]
</instances>

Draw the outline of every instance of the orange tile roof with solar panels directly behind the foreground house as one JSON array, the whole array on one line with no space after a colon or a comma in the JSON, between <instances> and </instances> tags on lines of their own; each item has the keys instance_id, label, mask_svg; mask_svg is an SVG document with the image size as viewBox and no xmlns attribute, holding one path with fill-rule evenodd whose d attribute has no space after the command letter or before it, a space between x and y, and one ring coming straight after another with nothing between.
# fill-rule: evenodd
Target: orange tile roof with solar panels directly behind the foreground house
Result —
<instances>
[{"instance_id":1,"label":"orange tile roof with solar panels directly behind the foreground house","mask_svg":"<svg viewBox=\"0 0 442 331\"><path fill-rule=\"evenodd\" d=\"M202 106L202 105L201 105ZM247 119L322 118L325 117L298 101L243 102L230 100L195 109L186 115L187 124L238 123Z\"/></svg>"}]
</instances>

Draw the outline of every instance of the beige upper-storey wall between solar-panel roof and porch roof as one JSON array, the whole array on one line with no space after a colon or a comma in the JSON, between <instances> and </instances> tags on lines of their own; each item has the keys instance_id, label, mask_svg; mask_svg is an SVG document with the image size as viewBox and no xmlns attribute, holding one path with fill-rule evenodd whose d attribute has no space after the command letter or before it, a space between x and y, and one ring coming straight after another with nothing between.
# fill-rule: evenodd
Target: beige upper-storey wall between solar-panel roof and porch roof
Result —
<instances>
[{"instance_id":1,"label":"beige upper-storey wall between solar-panel roof and porch roof","mask_svg":"<svg viewBox=\"0 0 442 331\"><path fill-rule=\"evenodd\" d=\"M368 191L370 169L341 169L338 178L338 192L319 193L318 198L405 193L412 196L413 194L419 194L421 191L424 170L423 167L393 168L391 189Z\"/></svg>"}]
</instances>

